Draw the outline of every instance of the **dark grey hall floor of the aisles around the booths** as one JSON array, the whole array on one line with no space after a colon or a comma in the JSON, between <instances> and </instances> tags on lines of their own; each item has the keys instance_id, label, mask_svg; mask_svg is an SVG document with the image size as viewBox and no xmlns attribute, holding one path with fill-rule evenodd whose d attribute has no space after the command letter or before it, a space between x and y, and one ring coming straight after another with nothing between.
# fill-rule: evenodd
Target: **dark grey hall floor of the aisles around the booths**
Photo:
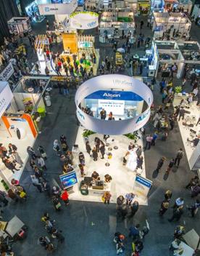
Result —
<instances>
[{"instance_id":1,"label":"dark grey hall floor of the aisles around the booths","mask_svg":"<svg viewBox=\"0 0 200 256\"><path fill-rule=\"evenodd\" d=\"M138 24L139 20L140 18L136 18ZM146 28L146 20L144 23L143 33L145 36L151 36L151 31L149 31L149 28ZM34 30L36 33L42 33L45 27L43 22L34 25ZM200 37L200 33L196 33L196 29L199 28L193 25L192 36ZM99 45L98 42L97 45ZM110 47L101 45L100 50L102 58L105 55L111 56L112 54ZM136 52L136 49L133 49L133 52ZM36 60L36 57L30 55L30 61L33 62L33 60ZM176 83L178 82L176 81ZM75 143L78 132L75 119L74 95L75 91L70 91L70 96L64 97L59 95L58 89L54 89L52 93L52 106L48 110L42 132L38 135L34 146L37 148L38 145L43 145L46 148L48 155L46 179L51 184L57 183L58 175L61 173L59 159L53 151L53 141L58 139L59 135L63 133L67 136L67 142L71 148ZM154 103L156 105L161 103L159 85L154 88ZM152 130L151 125L147 126L148 129ZM172 156L175 156L175 152L180 147L183 147L183 143L178 125L176 124L175 129L170 132L166 142L157 140L157 145L151 148L150 151L145 152L146 177L153 180L154 184L149 194L149 206L139 207L133 219L123 221L117 220L115 204L105 205L88 201L70 201L68 207L62 207L61 212L55 212L51 201L43 193L39 193L33 185L30 185L31 172L30 167L27 165L23 172L21 183L28 192L28 200L24 204L14 204L11 202L9 207L3 209L4 217L7 220L13 215L17 215L28 225L27 239L14 244L14 252L18 256L46 255L43 248L38 245L37 239L39 236L46 235L46 231L41 223L41 215L43 215L43 212L49 212L51 219L57 221L57 226L65 236L64 244L59 244L54 255L114 256L116 255L113 243L114 232L120 231L128 235L130 225L136 223L145 225L146 219L149 221L150 233L145 238L144 249L141 255L169 255L168 247L172 241L172 234L177 224L167 221L167 218L172 215L172 209L169 209L164 217L159 217L160 203L163 199L164 191L170 188L172 190L172 202L179 196L183 196L185 204L191 204L190 193L184 187L193 176L193 173L188 168L186 158L181 161L180 168L171 172L167 179L164 177L164 168L157 176L154 175L154 169L160 156L166 156L167 159L170 159ZM164 167L166 167L166 164L164 164ZM185 209L180 223L183 223L183 221L186 223L187 231L194 228L200 233L200 225L198 224L199 212L196 219L191 219ZM125 247L125 255L130 256L131 247L129 239L125 241Z\"/></svg>"}]
</instances>

